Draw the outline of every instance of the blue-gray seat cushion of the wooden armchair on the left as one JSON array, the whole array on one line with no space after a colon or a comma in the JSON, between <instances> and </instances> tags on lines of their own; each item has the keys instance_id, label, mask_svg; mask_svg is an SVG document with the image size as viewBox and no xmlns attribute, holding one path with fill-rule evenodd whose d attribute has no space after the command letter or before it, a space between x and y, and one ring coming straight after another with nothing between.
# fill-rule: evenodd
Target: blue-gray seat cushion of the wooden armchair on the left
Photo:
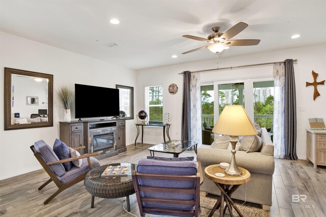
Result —
<instances>
[{"instance_id":1,"label":"blue-gray seat cushion of the wooden armchair on the left","mask_svg":"<svg viewBox=\"0 0 326 217\"><path fill-rule=\"evenodd\" d=\"M93 168L100 166L100 163L96 158L90 157L90 160ZM58 177L61 183L66 184L72 180L75 180L78 176L81 176L87 173L88 171L90 171L87 158L83 158L82 161L83 161L82 167L78 168L76 166L72 166L71 169L67 171L64 175Z\"/></svg>"}]
</instances>

